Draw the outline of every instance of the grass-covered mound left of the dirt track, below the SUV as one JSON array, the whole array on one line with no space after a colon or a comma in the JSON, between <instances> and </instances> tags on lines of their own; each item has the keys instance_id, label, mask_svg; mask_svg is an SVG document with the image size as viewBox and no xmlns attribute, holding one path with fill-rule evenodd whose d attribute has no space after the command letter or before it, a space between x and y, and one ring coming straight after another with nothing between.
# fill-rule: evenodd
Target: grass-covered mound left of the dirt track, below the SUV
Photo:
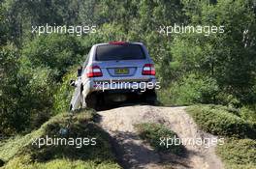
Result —
<instances>
[{"instance_id":1,"label":"grass-covered mound left of the dirt track, below the SUV","mask_svg":"<svg viewBox=\"0 0 256 169\"><path fill-rule=\"evenodd\" d=\"M72 119L67 113L59 114L27 135L6 140L0 145L0 158L6 161L3 168L121 168L112 154L109 134L93 119L91 110L77 112ZM68 129L66 134L59 132L63 127ZM39 148L32 145L33 139L47 135L51 138L96 138L97 144L81 148L70 145Z\"/></svg>"}]
</instances>

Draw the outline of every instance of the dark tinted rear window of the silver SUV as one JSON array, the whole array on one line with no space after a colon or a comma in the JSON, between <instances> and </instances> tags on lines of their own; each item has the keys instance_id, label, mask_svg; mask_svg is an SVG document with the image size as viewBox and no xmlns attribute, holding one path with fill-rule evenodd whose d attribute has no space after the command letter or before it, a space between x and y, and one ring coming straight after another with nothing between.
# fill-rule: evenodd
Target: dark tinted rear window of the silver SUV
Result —
<instances>
[{"instance_id":1,"label":"dark tinted rear window of the silver SUV","mask_svg":"<svg viewBox=\"0 0 256 169\"><path fill-rule=\"evenodd\" d=\"M97 61L144 59L144 50L140 44L104 44L96 48Z\"/></svg>"}]
</instances>

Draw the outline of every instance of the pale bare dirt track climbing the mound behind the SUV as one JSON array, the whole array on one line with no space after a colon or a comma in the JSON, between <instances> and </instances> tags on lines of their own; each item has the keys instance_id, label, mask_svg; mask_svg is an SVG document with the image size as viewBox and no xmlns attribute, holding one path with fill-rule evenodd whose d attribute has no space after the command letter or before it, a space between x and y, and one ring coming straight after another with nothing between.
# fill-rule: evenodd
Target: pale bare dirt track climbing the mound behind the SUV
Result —
<instances>
[{"instance_id":1,"label":"pale bare dirt track climbing the mound behind the SUV","mask_svg":"<svg viewBox=\"0 0 256 169\"><path fill-rule=\"evenodd\" d=\"M214 154L215 145L186 145L187 157L163 155L153 151L139 138L134 124L143 122L161 123L176 132L179 138L215 138L198 129L184 111L184 107L156 107L135 105L98 112L101 126L115 140L117 155L125 168L223 168L220 159Z\"/></svg>"}]
</instances>

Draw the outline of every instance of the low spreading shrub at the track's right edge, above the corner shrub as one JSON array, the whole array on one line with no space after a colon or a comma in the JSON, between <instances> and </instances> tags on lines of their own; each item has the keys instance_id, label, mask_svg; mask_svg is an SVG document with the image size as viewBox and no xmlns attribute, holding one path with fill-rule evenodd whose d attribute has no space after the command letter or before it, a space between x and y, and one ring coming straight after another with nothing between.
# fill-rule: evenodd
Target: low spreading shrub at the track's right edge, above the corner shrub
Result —
<instances>
[{"instance_id":1,"label":"low spreading shrub at the track's right edge, above the corner shrub","mask_svg":"<svg viewBox=\"0 0 256 169\"><path fill-rule=\"evenodd\" d=\"M256 138L256 125L236 115L236 111L224 106L195 105L186 108L203 130L216 135Z\"/></svg>"}]
</instances>

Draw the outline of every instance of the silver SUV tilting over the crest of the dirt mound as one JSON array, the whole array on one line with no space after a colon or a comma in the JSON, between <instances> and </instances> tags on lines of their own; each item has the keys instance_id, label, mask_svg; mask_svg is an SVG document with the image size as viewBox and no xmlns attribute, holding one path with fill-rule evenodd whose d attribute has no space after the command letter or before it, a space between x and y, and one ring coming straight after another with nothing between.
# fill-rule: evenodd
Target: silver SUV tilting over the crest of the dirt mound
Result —
<instances>
[{"instance_id":1,"label":"silver SUV tilting over the crest of the dirt mound","mask_svg":"<svg viewBox=\"0 0 256 169\"><path fill-rule=\"evenodd\" d=\"M158 87L153 61L141 42L98 43L91 50L78 79L70 109L99 107L103 103L142 99L156 101ZM136 98L135 98L136 97Z\"/></svg>"}]
</instances>

